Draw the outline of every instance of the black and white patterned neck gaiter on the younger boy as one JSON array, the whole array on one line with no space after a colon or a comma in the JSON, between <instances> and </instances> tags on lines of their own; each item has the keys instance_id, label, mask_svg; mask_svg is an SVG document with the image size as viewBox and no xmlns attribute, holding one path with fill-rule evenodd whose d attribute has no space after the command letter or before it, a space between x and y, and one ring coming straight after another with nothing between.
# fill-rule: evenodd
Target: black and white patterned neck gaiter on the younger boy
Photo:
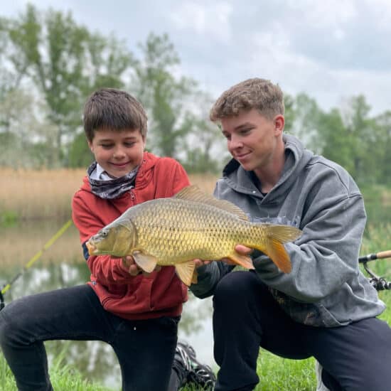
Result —
<instances>
[{"instance_id":1,"label":"black and white patterned neck gaiter on the younger boy","mask_svg":"<svg viewBox=\"0 0 391 391\"><path fill-rule=\"evenodd\" d=\"M112 179L95 179L91 178L91 174L97 168L97 162L94 161L90 167L87 169L88 181L90 182L91 191L100 198L105 200L112 200L113 198L118 198L120 195L126 193L131 188L134 188L134 182L136 180L137 171L139 171L139 166L134 168L134 170L127 173L127 175L120 176L119 178Z\"/></svg>"}]
</instances>

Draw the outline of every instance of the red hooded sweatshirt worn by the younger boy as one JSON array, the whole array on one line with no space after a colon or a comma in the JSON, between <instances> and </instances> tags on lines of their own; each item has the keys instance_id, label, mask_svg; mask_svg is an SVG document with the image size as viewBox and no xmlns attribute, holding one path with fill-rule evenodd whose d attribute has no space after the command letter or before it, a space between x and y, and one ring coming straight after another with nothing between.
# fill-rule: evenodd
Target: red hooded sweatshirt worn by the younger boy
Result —
<instances>
[{"instance_id":1,"label":"red hooded sweatshirt worn by the younger boy","mask_svg":"<svg viewBox=\"0 0 391 391\"><path fill-rule=\"evenodd\" d=\"M73 221L85 242L102 227L122 215L127 208L154 198L166 198L189 185L181 164L171 158L160 158L144 152L134 188L118 198L105 200L91 192L87 176L72 201ZM162 267L148 277L131 276L121 258L109 255L87 257L92 289L102 306L127 319L178 316L187 300L187 286L176 276L172 266Z\"/></svg>"}]
</instances>

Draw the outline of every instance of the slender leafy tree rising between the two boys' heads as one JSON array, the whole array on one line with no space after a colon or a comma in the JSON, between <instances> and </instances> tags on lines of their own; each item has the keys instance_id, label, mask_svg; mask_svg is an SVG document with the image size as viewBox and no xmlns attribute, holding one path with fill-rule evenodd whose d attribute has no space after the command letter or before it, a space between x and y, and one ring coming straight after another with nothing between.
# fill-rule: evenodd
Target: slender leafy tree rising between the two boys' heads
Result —
<instances>
[{"instance_id":1,"label":"slender leafy tree rising between the two boys' heads","mask_svg":"<svg viewBox=\"0 0 391 391\"><path fill-rule=\"evenodd\" d=\"M149 146L164 156L176 156L178 141L189 132L181 122L195 82L174 77L180 62L167 34L150 33L139 47L142 58L134 65L132 90L149 112Z\"/></svg>"}]
</instances>

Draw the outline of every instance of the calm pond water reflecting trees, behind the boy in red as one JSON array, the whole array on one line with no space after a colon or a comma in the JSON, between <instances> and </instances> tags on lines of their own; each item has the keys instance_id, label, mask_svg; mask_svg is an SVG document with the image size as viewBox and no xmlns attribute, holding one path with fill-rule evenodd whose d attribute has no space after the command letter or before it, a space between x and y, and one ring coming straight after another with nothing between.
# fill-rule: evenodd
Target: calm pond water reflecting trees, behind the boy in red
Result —
<instances>
[{"instance_id":1,"label":"calm pond water reflecting trees, behind the boy in red","mask_svg":"<svg viewBox=\"0 0 391 391\"><path fill-rule=\"evenodd\" d=\"M11 282L58 227L58 223L41 222L0 230L4 245L9 250L8 253L2 252L2 258L0 257L0 287ZM21 243L26 247L21 246ZM12 263L9 262L10 259L13 260ZM90 271L82 258L77 231L73 227L11 284L11 289L4 294L4 299L7 303L29 294L84 284L89 279ZM186 339L194 346L200 360L214 366L211 312L210 300L199 300L190 295L183 309L179 338ZM48 341L45 346L50 363L53 357L67 349L65 363L75 365L87 378L100 380L114 390L119 389L119 365L112 348L106 343Z\"/></svg>"}]
</instances>

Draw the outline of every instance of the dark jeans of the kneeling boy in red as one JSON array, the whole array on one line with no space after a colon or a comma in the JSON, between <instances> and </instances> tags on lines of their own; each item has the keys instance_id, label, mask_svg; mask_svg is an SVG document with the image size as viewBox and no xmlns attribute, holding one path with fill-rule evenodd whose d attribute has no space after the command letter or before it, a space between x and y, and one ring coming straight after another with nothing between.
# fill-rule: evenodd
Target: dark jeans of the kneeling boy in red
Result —
<instances>
[{"instance_id":1,"label":"dark jeans of the kneeling boy in red","mask_svg":"<svg viewBox=\"0 0 391 391\"><path fill-rule=\"evenodd\" d=\"M127 321L105 311L87 284L26 296L0 311L0 345L21 391L53 390L43 341L59 339L109 343L124 391L167 390L177 331L178 318Z\"/></svg>"}]
</instances>

